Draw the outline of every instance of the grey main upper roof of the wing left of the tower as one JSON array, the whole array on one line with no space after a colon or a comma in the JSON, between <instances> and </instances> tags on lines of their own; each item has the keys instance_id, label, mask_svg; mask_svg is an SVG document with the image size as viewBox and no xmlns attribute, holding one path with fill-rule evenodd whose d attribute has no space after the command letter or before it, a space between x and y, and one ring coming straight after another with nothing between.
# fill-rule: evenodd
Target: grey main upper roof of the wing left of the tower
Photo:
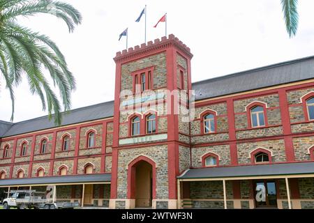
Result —
<instances>
[{"instance_id":1,"label":"grey main upper roof of the wing left of the tower","mask_svg":"<svg viewBox=\"0 0 314 223\"><path fill-rule=\"evenodd\" d=\"M79 109L73 109L68 113L63 114L61 125L70 125L74 123L82 123L84 121L93 121L100 118L112 117L114 114L114 101L100 103L98 105L91 105ZM54 128L53 119L50 121L47 116L33 118L27 121L14 123L11 128L2 135L2 137L9 137L15 134L22 134L33 132L36 130L45 130ZM1 137L1 135L0 135Z\"/></svg>"}]
</instances>

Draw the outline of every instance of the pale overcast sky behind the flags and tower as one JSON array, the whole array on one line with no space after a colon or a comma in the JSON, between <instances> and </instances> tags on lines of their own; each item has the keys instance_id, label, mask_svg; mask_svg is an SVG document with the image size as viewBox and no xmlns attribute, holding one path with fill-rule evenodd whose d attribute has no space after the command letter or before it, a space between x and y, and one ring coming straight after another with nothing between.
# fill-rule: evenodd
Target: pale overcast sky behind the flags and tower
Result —
<instances>
[{"instance_id":1,"label":"pale overcast sky behind the flags and tower","mask_svg":"<svg viewBox=\"0 0 314 223\"><path fill-rule=\"evenodd\" d=\"M280 0L67 0L83 15L74 33L49 15L22 18L24 26L50 36L66 56L77 80L73 109L114 99L112 58L126 47L119 34L128 27L128 46L144 43L144 20L135 22L147 4L147 41L165 36L165 24L154 24L167 13L168 34L190 47L193 82L314 54L314 1L299 1L299 29L290 39ZM143 17L144 18L144 17ZM0 120L10 120L10 97L0 89ZM225 86L227 87L227 86ZM14 122L44 116L38 96L24 81L15 89Z\"/></svg>"}]
</instances>

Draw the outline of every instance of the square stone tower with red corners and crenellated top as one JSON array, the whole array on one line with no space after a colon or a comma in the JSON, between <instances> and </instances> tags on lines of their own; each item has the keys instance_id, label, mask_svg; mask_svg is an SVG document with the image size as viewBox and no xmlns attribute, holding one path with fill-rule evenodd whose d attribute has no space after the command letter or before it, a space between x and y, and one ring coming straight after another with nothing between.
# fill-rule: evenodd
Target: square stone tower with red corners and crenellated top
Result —
<instances>
[{"instance_id":1,"label":"square stone tower with red corners and crenellated top","mask_svg":"<svg viewBox=\"0 0 314 223\"><path fill-rule=\"evenodd\" d=\"M190 167L193 55L174 35L118 52L110 208L177 208L177 176ZM183 95L183 96L182 96Z\"/></svg>"}]
</instances>

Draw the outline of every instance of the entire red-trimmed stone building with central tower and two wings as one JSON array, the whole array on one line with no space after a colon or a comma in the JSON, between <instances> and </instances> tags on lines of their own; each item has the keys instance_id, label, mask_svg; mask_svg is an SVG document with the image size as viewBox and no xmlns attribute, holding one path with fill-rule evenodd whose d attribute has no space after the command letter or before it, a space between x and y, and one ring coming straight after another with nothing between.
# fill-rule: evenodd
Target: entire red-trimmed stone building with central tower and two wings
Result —
<instances>
[{"instance_id":1,"label":"entire red-trimmed stone building with central tower and two wings","mask_svg":"<svg viewBox=\"0 0 314 223\"><path fill-rule=\"evenodd\" d=\"M0 121L1 196L52 185L82 206L314 208L314 56L197 83L192 57L156 39L117 53L114 101L58 127Z\"/></svg>"}]
</instances>

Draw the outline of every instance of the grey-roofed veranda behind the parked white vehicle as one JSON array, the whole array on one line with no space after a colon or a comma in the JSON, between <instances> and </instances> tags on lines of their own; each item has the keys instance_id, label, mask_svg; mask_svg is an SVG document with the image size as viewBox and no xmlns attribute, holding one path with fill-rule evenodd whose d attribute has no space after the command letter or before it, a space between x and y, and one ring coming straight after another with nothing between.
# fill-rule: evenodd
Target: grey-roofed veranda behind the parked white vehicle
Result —
<instances>
[{"instance_id":1,"label":"grey-roofed veranda behind the parked white vehicle","mask_svg":"<svg viewBox=\"0 0 314 223\"><path fill-rule=\"evenodd\" d=\"M12 190L47 192L53 202L78 202L80 207L109 207L110 174L17 178L0 181L1 201ZM50 192L50 190L52 190Z\"/></svg>"}]
</instances>

